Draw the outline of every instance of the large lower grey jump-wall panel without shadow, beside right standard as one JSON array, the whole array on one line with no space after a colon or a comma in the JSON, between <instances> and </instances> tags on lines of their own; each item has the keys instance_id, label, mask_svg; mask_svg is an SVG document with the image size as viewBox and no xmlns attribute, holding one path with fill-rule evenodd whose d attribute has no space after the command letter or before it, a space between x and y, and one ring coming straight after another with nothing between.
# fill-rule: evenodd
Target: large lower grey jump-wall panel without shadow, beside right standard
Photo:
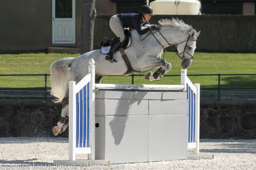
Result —
<instances>
[{"instance_id":1,"label":"large lower grey jump-wall panel without shadow, beside right standard","mask_svg":"<svg viewBox=\"0 0 256 170\"><path fill-rule=\"evenodd\" d=\"M187 159L188 116L150 116L148 161Z\"/></svg>"}]
</instances>

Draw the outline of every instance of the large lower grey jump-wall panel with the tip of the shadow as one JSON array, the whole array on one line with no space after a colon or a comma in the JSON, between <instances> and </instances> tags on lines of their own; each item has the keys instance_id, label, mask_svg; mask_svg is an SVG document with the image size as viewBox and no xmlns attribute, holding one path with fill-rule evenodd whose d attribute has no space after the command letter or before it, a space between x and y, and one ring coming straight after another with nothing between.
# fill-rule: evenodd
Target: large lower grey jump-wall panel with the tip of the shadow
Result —
<instances>
[{"instance_id":1,"label":"large lower grey jump-wall panel with the tip of the shadow","mask_svg":"<svg viewBox=\"0 0 256 170\"><path fill-rule=\"evenodd\" d=\"M148 117L105 117L105 159L112 164L148 161Z\"/></svg>"}]
</instances>

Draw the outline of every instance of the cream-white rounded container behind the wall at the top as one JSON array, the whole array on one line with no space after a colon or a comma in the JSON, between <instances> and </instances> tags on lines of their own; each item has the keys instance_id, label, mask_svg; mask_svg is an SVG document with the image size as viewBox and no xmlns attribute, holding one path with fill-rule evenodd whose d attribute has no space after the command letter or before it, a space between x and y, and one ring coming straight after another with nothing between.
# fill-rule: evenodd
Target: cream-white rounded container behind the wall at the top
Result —
<instances>
[{"instance_id":1,"label":"cream-white rounded container behind the wall at the top","mask_svg":"<svg viewBox=\"0 0 256 170\"><path fill-rule=\"evenodd\" d=\"M156 15L198 15L198 0L155 0L150 3Z\"/></svg>"}]
</instances>

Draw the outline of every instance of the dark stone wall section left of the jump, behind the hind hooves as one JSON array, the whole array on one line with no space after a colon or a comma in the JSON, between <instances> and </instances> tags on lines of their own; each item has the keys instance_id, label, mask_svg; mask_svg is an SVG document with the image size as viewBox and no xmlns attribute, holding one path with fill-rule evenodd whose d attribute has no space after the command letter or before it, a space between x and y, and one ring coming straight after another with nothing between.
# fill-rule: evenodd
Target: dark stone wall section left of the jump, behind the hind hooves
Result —
<instances>
[{"instance_id":1,"label":"dark stone wall section left of the jump, behind the hind hooves","mask_svg":"<svg viewBox=\"0 0 256 170\"><path fill-rule=\"evenodd\" d=\"M0 137L53 136L60 114L53 102L0 102Z\"/></svg>"}]
</instances>

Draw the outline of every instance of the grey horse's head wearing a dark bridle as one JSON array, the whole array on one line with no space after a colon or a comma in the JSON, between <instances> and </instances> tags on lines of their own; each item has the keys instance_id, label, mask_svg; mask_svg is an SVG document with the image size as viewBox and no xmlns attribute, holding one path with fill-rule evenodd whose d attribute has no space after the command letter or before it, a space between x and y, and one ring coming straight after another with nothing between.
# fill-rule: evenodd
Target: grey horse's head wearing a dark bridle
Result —
<instances>
[{"instance_id":1,"label":"grey horse's head wearing a dark bridle","mask_svg":"<svg viewBox=\"0 0 256 170\"><path fill-rule=\"evenodd\" d=\"M196 40L200 31L197 33L195 29L191 29L189 33L187 40L177 44L177 51L179 52L181 66L183 69L189 68L192 63L196 48Z\"/></svg>"}]
</instances>

